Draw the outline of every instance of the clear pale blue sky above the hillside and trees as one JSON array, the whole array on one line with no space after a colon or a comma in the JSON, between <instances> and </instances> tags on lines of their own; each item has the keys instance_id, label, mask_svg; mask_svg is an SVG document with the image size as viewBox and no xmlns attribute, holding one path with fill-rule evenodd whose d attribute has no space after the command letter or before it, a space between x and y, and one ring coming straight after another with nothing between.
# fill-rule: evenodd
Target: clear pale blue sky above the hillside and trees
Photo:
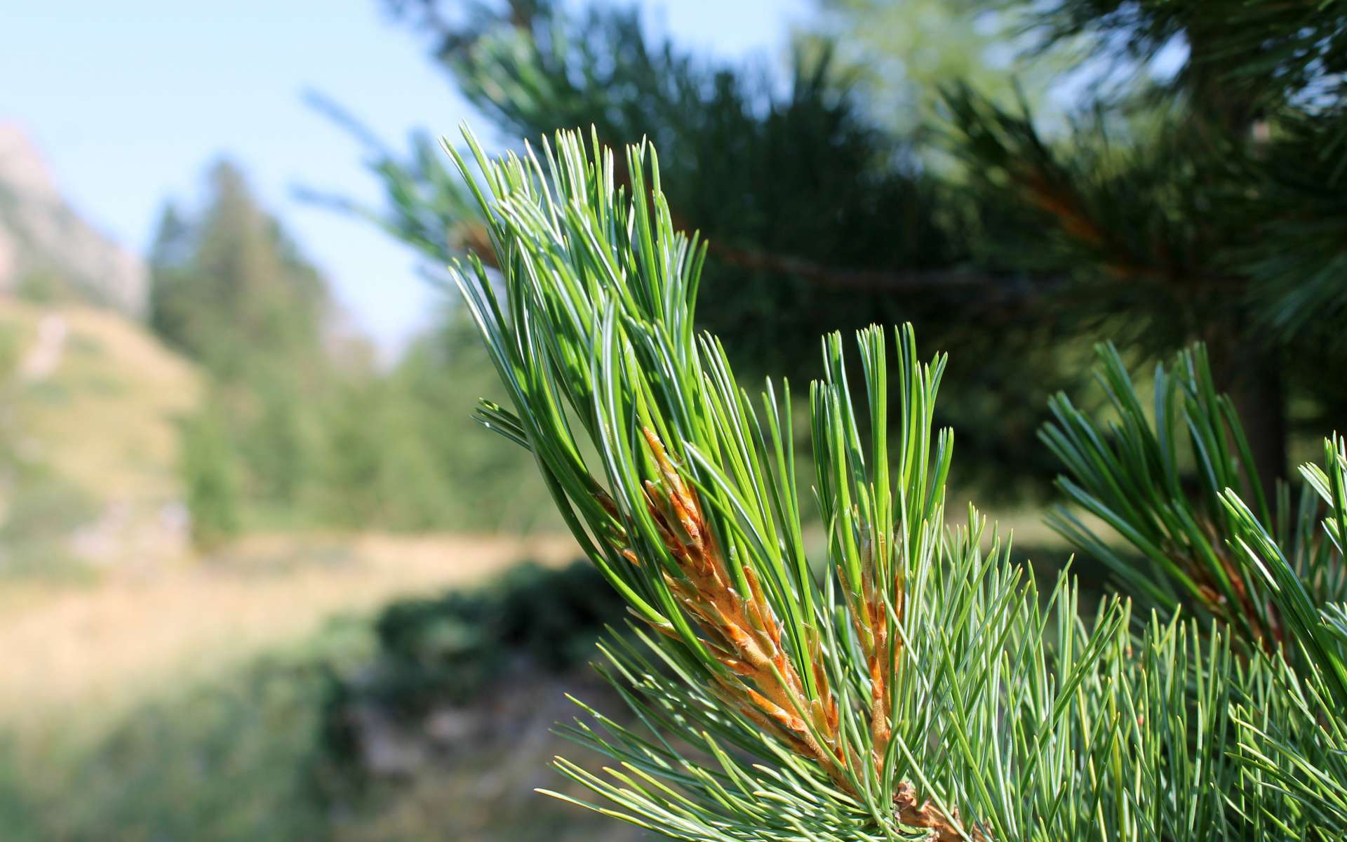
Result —
<instances>
[{"instance_id":1,"label":"clear pale blue sky above the hillside and trees","mask_svg":"<svg viewBox=\"0 0 1347 842\"><path fill-rule=\"evenodd\" d=\"M640 0L651 26L722 57L780 54L808 0ZM229 155L385 349L434 292L415 257L356 220L294 198L299 185L377 199L361 148L302 102L317 90L389 141L451 133L469 109L379 0L69 0L0 12L0 121L23 125L62 193L144 253L168 197L194 199Z\"/></svg>"}]
</instances>

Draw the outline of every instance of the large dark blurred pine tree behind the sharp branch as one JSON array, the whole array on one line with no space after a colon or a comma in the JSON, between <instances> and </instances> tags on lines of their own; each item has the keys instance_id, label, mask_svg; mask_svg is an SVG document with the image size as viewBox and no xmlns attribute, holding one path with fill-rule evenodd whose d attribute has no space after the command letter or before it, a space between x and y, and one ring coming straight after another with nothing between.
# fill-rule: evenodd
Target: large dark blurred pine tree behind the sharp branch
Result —
<instances>
[{"instance_id":1,"label":"large dark blurred pine tree behind the sharp branch","mask_svg":"<svg viewBox=\"0 0 1347 842\"><path fill-rule=\"evenodd\" d=\"M1207 342L1269 484L1296 431L1347 410L1347 389L1304 377L1347 370L1340 331L1307 319L1340 315L1347 288L1338 4L828 0L836 58L797 61L781 96L765 74L700 61L621 8L385 1L502 133L593 124L607 143L665 150L675 218L711 244L718 303L702 323L734 358L812 373L795 337L872 319L911 319L932 345L964 349L942 419L991 489L1051 474L1032 446L1041 407L1076 385L1098 338L1134 362ZM923 27L936 43L904 40ZM1030 51L1017 65L1030 102L1055 79L1084 92L1068 131L1044 133L1008 106L1026 79L995 71L998 32L1002 53ZM907 116L866 113L857 78L866 105L907 102ZM912 120L940 84L952 136ZM466 249L490 259L469 197L428 145L411 159L376 148L381 222L435 265ZM932 150L964 166L923 166Z\"/></svg>"}]
</instances>

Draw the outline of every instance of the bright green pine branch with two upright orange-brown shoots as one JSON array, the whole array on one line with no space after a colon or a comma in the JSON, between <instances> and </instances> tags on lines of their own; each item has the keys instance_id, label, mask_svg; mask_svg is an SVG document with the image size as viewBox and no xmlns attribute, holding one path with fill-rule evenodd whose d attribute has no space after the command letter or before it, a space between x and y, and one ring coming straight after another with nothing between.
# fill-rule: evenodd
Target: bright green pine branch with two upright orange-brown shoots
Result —
<instances>
[{"instance_id":1,"label":"bright green pine branch with two upright orange-brown shoots","mask_svg":"<svg viewBox=\"0 0 1347 842\"><path fill-rule=\"evenodd\" d=\"M1216 839L1273 811L1223 750L1231 694L1280 710L1263 664L1241 674L1219 629L1117 601L1086 621L1070 579L1040 600L977 512L944 524L946 362L911 327L896 352L859 331L855 393L824 338L811 559L789 387L754 404L694 334L704 247L675 232L653 150L628 150L626 191L597 139L501 160L467 140L475 168L449 151L501 278L470 260L458 282L513 404L480 419L533 453L633 613L601 671L637 725L582 705L564 729L617 763L558 761L586 806L745 842Z\"/></svg>"}]
</instances>

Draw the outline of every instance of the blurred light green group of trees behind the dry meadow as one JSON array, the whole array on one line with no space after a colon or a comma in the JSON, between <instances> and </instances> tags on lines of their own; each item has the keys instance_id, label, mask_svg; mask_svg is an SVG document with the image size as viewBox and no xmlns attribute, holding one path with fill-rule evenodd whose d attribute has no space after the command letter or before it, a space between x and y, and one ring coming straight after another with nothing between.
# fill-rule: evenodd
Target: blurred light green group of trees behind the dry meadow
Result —
<instances>
[{"instance_id":1,"label":"blurred light green group of trees behind the dry meadow","mask_svg":"<svg viewBox=\"0 0 1347 842\"><path fill-rule=\"evenodd\" d=\"M525 481L532 462L473 445L455 410L490 376L462 313L383 370L361 341L337 338L323 279L238 168L216 166L207 187L198 212L164 209L150 314L210 381L210 418L182 441L199 542L257 525L555 524Z\"/></svg>"}]
</instances>

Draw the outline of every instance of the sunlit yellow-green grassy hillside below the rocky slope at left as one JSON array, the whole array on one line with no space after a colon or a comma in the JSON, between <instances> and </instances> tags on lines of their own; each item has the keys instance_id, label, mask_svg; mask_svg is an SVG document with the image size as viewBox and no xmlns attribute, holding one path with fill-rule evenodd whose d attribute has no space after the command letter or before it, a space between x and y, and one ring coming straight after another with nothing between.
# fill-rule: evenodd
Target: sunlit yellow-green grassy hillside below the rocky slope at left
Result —
<instances>
[{"instance_id":1,"label":"sunlit yellow-green grassy hillside below the rocky slope at left","mask_svg":"<svg viewBox=\"0 0 1347 842\"><path fill-rule=\"evenodd\" d=\"M0 571L54 573L185 552L176 419L193 365L140 325L0 299Z\"/></svg>"}]
</instances>

